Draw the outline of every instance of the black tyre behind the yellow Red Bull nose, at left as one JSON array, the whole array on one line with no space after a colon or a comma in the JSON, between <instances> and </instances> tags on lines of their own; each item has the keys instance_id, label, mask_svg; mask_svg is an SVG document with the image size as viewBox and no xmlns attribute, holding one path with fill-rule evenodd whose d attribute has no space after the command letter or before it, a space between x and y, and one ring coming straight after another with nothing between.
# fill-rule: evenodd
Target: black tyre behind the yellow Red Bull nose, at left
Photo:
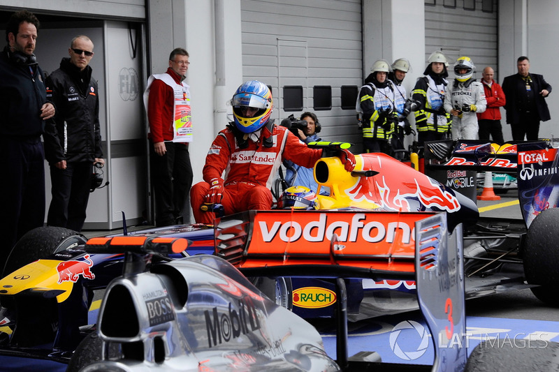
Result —
<instances>
[{"instance_id":1,"label":"black tyre behind the yellow Red Bull nose, at left","mask_svg":"<svg viewBox=\"0 0 559 372\"><path fill-rule=\"evenodd\" d=\"M40 258L85 244L86 241L85 236L66 228L34 228L22 236L13 247L3 268L2 277Z\"/></svg>"}]
</instances>

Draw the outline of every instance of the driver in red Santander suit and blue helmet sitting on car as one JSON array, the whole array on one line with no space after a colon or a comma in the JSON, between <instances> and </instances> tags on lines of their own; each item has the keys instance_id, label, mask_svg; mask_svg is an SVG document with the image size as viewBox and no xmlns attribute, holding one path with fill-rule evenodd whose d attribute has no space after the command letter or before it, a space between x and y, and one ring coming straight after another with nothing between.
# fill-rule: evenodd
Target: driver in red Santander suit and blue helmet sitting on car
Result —
<instances>
[{"instance_id":1,"label":"driver in red Santander suit and blue helmet sitting on car","mask_svg":"<svg viewBox=\"0 0 559 372\"><path fill-rule=\"evenodd\" d=\"M270 187L283 161L312 168L322 154L310 149L287 128L276 126L270 89L258 81L238 87L231 99L234 121L215 138L203 168L204 181L194 185L190 200L197 223L211 224L215 214L203 205L222 204L224 214L249 209L270 209ZM355 157L340 150L346 170L355 167Z\"/></svg>"}]
</instances>

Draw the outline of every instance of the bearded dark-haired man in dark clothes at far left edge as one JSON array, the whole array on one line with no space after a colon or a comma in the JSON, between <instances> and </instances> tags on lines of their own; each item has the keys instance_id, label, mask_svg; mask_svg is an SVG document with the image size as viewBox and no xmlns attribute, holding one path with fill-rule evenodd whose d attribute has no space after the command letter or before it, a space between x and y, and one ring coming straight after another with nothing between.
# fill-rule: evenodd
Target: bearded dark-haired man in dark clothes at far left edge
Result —
<instances>
[{"instance_id":1,"label":"bearded dark-haired man in dark clothes at far left edge","mask_svg":"<svg viewBox=\"0 0 559 372\"><path fill-rule=\"evenodd\" d=\"M34 50L39 21L21 10L6 24L0 53L0 271L17 239L45 221L45 160L41 134L55 114Z\"/></svg>"}]
</instances>

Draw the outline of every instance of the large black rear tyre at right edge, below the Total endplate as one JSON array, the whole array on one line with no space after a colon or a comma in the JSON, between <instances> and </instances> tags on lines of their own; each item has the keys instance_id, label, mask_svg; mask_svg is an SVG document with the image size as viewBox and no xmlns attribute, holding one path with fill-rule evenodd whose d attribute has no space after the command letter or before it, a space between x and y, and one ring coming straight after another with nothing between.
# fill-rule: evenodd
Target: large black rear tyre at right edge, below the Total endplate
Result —
<instances>
[{"instance_id":1,"label":"large black rear tyre at right edge, below the Total endplate","mask_svg":"<svg viewBox=\"0 0 559 372\"><path fill-rule=\"evenodd\" d=\"M551 208L538 214L526 234L523 249L524 273L529 284L539 284L531 288L532 293L550 306L559 306L557 285L559 285L559 246L557 226L559 208Z\"/></svg>"}]
</instances>

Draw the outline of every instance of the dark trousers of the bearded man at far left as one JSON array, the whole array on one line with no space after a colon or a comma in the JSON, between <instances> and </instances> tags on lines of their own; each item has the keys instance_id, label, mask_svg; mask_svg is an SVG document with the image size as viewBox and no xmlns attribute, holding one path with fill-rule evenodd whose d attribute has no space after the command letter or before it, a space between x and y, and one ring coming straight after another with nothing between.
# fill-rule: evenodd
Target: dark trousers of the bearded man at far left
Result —
<instances>
[{"instance_id":1,"label":"dark trousers of the bearded man at far left","mask_svg":"<svg viewBox=\"0 0 559 372\"><path fill-rule=\"evenodd\" d=\"M0 270L16 241L45 221L45 153L41 137L0 136Z\"/></svg>"}]
</instances>

